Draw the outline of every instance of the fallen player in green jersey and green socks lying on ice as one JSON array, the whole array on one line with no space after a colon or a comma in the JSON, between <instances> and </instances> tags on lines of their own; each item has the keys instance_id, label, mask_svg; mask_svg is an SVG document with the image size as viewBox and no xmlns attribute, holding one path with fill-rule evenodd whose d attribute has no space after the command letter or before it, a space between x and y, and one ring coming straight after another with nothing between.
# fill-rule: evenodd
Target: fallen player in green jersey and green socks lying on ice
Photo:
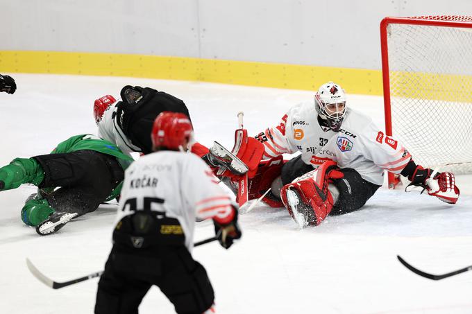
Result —
<instances>
[{"instance_id":1,"label":"fallen player in green jersey and green socks lying on ice","mask_svg":"<svg viewBox=\"0 0 472 314\"><path fill-rule=\"evenodd\" d=\"M41 235L52 234L72 218L116 198L124 169L133 159L92 134L59 143L49 155L16 158L0 168L0 191L23 183L38 186L22 209L22 220ZM56 189L59 188L59 189Z\"/></svg>"}]
</instances>

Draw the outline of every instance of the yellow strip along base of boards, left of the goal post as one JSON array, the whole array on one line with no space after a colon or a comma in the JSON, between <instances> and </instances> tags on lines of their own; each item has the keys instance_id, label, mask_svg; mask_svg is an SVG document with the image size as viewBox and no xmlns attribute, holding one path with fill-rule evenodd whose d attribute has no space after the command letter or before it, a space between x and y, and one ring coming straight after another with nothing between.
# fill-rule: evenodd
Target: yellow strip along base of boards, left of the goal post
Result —
<instances>
[{"instance_id":1,"label":"yellow strip along base of boards, left of the goal post","mask_svg":"<svg viewBox=\"0 0 472 314\"><path fill-rule=\"evenodd\" d=\"M312 91L332 80L351 94L382 95L380 70L158 55L0 51L0 73L3 72L198 80Z\"/></svg>"}]
</instances>

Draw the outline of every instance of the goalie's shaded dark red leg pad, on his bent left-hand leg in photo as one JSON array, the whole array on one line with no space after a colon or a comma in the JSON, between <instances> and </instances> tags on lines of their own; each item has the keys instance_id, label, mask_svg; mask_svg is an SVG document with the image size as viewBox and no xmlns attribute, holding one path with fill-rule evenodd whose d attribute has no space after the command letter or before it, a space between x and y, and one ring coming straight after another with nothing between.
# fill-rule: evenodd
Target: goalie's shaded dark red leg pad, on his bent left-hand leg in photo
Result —
<instances>
[{"instance_id":1,"label":"goalie's shaded dark red leg pad, on his bent left-hand leg in photo","mask_svg":"<svg viewBox=\"0 0 472 314\"><path fill-rule=\"evenodd\" d=\"M268 189L270 189L273 180L280 175L282 166L285 163L282 156L274 157L269 160L260 162L257 173L249 180L248 183L248 199L254 200L260 198ZM273 195L267 193L262 202L270 207L284 207L283 202Z\"/></svg>"}]
</instances>

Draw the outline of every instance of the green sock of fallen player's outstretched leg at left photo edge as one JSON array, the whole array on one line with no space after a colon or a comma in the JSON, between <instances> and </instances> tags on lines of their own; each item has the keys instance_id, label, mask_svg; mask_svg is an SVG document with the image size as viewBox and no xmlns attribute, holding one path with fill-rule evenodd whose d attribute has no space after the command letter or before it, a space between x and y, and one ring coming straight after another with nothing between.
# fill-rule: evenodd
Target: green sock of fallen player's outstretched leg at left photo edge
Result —
<instances>
[{"instance_id":1,"label":"green sock of fallen player's outstretched leg at left photo edge","mask_svg":"<svg viewBox=\"0 0 472 314\"><path fill-rule=\"evenodd\" d=\"M16 158L0 168L0 189L17 189L23 183L32 183L36 186L44 180L44 172L40 164L33 158Z\"/></svg>"}]
</instances>

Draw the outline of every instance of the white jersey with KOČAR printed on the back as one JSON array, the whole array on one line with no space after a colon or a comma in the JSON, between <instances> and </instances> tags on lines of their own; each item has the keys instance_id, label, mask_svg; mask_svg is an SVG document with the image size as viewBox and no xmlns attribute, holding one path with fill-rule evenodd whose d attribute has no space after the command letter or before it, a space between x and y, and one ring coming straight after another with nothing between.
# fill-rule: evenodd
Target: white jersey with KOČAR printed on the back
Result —
<instances>
[{"instance_id":1,"label":"white jersey with KO\u010cAR printed on the back","mask_svg":"<svg viewBox=\"0 0 472 314\"><path fill-rule=\"evenodd\" d=\"M145 198L162 201L145 202ZM129 205L132 199L136 209ZM115 225L145 206L176 218L185 234L185 246L192 250L196 218L224 220L235 204L203 160L192 153L165 150L144 155L126 169Z\"/></svg>"}]
</instances>

